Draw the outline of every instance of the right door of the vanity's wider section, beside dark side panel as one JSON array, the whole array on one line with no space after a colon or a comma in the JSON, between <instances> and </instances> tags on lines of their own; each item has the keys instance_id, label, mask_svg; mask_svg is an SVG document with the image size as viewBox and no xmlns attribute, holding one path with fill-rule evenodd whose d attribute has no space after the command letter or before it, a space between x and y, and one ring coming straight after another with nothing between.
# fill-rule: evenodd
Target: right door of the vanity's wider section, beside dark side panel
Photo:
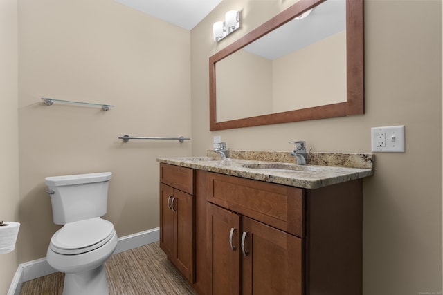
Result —
<instances>
[{"instance_id":1,"label":"right door of the vanity's wider section, beside dark side panel","mask_svg":"<svg viewBox=\"0 0 443 295\"><path fill-rule=\"evenodd\" d=\"M302 239L243 216L242 246L243 295L304 294Z\"/></svg>"}]
</instances>

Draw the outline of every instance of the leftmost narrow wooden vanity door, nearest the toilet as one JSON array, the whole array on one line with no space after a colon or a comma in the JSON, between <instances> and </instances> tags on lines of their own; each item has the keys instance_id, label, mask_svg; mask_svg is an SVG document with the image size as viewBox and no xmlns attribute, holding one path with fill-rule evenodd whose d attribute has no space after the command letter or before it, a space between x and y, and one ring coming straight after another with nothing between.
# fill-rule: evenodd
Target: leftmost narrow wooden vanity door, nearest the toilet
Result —
<instances>
[{"instance_id":1,"label":"leftmost narrow wooden vanity door, nearest the toilet","mask_svg":"<svg viewBox=\"0 0 443 295\"><path fill-rule=\"evenodd\" d=\"M160 248L168 258L172 259L174 252L174 212L170 208L170 201L174 196L174 189L160 184Z\"/></svg>"}]
</instances>

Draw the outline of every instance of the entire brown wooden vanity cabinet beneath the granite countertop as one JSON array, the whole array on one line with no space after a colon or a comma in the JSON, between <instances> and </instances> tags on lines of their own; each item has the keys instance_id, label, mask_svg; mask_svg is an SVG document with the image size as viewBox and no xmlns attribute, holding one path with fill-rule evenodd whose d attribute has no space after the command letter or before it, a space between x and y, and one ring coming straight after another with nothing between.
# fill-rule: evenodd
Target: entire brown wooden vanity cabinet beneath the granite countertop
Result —
<instances>
[{"instance_id":1,"label":"entire brown wooden vanity cabinet beneath the granite countertop","mask_svg":"<svg viewBox=\"0 0 443 295\"><path fill-rule=\"evenodd\" d=\"M362 178L304 189L161 163L160 181L160 247L197 294L362 294Z\"/></svg>"}]
</instances>

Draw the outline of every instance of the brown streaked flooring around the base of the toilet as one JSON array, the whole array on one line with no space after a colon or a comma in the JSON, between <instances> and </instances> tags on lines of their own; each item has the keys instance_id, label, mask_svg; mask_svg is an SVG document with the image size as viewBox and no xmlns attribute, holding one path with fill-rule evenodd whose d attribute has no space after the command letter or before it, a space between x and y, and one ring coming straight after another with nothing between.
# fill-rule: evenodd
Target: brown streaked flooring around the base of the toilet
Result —
<instances>
[{"instance_id":1,"label":"brown streaked flooring around the base of the toilet","mask_svg":"<svg viewBox=\"0 0 443 295\"><path fill-rule=\"evenodd\" d=\"M110 295L197 294L154 242L114 254L105 263ZM20 295L62 295L64 274L23 283Z\"/></svg>"}]
</instances>

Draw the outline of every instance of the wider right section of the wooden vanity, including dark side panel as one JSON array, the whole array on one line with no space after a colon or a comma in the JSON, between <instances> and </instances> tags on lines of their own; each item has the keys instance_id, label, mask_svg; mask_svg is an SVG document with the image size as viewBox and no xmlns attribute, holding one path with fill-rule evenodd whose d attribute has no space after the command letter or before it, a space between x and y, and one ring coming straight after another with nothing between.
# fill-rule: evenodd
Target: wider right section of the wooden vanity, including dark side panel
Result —
<instances>
[{"instance_id":1,"label":"wider right section of the wooden vanity, including dark side panel","mask_svg":"<svg viewBox=\"0 0 443 295\"><path fill-rule=\"evenodd\" d=\"M361 189L207 173L206 294L361 294Z\"/></svg>"}]
</instances>

